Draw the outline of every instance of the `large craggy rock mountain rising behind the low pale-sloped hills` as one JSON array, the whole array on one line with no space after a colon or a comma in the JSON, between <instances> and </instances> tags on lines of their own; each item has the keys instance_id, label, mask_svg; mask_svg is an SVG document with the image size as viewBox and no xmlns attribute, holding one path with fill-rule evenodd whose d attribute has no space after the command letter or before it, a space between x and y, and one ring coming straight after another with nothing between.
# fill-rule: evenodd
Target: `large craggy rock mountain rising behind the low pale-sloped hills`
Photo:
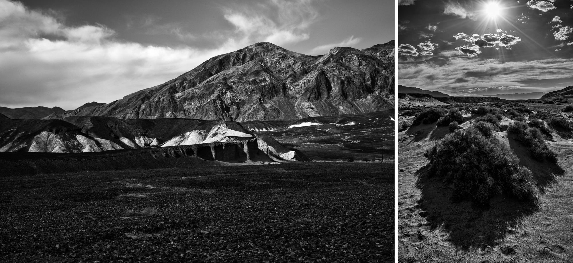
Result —
<instances>
[{"instance_id":1,"label":"large craggy rock mountain rising behind the low pale-sloped hills","mask_svg":"<svg viewBox=\"0 0 573 263\"><path fill-rule=\"evenodd\" d=\"M310 56L256 43L218 55L161 85L58 118L298 119L393 107L394 41Z\"/></svg>"}]
</instances>

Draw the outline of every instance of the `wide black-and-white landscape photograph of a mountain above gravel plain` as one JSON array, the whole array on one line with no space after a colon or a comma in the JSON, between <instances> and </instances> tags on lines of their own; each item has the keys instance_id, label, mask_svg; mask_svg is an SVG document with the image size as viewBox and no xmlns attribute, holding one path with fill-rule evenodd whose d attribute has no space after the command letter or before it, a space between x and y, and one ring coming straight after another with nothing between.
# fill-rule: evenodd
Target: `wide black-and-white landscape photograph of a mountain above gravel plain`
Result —
<instances>
[{"instance_id":1,"label":"wide black-and-white landscape photograph of a mountain above gravel plain","mask_svg":"<svg viewBox=\"0 0 573 263\"><path fill-rule=\"evenodd\" d=\"M396 8L0 0L0 262L394 262Z\"/></svg>"}]
</instances>

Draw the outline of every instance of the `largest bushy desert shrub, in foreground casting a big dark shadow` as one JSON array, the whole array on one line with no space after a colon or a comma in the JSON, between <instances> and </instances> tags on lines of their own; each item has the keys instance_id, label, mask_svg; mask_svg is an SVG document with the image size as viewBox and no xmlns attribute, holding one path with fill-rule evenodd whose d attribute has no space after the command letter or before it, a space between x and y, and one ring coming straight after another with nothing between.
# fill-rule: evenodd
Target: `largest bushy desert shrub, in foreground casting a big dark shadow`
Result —
<instances>
[{"instance_id":1,"label":"largest bushy desert shrub, in foreground casting a big dark shadow","mask_svg":"<svg viewBox=\"0 0 573 263\"><path fill-rule=\"evenodd\" d=\"M429 175L452 185L456 198L488 204L496 194L505 193L521 201L537 200L529 182L531 171L519 166L511 150L474 126L448 134L424 156L430 159Z\"/></svg>"}]
</instances>

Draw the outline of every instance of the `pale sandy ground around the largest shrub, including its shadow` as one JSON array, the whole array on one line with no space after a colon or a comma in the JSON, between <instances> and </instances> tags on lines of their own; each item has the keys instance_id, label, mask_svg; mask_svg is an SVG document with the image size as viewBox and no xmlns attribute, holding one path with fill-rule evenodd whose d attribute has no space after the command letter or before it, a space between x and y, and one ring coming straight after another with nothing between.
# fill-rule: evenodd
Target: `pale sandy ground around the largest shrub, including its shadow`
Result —
<instances>
[{"instance_id":1,"label":"pale sandy ground around the largest shrub, including its shadow","mask_svg":"<svg viewBox=\"0 0 573 263\"><path fill-rule=\"evenodd\" d=\"M399 262L572 262L573 134L558 131L547 141L558 154L555 165L499 132L499 141L532 170L540 204L497 196L488 208L453 202L448 186L426 177L422 154L446 134L435 123L398 133Z\"/></svg>"}]
</instances>

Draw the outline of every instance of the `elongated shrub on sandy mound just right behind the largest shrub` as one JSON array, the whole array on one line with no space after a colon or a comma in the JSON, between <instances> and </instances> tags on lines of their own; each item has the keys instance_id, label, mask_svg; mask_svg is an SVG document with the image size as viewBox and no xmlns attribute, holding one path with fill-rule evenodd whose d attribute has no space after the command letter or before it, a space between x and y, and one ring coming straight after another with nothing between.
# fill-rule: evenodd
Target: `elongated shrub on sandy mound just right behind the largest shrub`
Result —
<instances>
[{"instance_id":1,"label":"elongated shrub on sandy mound just right behind the largest shrub","mask_svg":"<svg viewBox=\"0 0 573 263\"><path fill-rule=\"evenodd\" d=\"M517 140L527 146L533 157L550 162L557 162L557 154L547 147L543 134L536 127L529 127L527 123L516 121L509 124L508 132L516 134Z\"/></svg>"}]
</instances>

